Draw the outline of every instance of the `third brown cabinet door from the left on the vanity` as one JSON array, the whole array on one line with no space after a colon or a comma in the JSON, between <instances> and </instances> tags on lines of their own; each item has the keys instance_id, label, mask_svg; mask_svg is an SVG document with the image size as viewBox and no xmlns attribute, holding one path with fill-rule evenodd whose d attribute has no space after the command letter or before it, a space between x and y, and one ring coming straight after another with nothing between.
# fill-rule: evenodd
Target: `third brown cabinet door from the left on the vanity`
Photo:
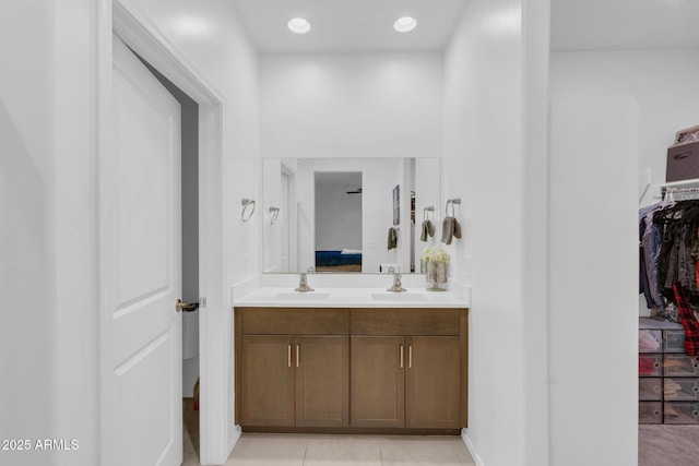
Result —
<instances>
[{"instance_id":1,"label":"third brown cabinet door from the left on the vanity","mask_svg":"<svg viewBox=\"0 0 699 466\"><path fill-rule=\"evenodd\" d=\"M405 425L405 338L352 336L351 425Z\"/></svg>"}]
</instances>

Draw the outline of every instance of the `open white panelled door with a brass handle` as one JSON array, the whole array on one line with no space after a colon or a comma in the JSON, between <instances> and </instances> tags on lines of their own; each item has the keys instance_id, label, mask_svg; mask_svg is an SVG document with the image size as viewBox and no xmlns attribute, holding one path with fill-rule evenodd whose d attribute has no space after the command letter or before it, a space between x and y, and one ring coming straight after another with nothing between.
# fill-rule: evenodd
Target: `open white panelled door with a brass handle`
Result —
<instances>
[{"instance_id":1,"label":"open white panelled door with a brass handle","mask_svg":"<svg viewBox=\"0 0 699 466\"><path fill-rule=\"evenodd\" d=\"M115 150L99 191L100 289L112 319L110 459L179 465L180 106L117 36L112 87Z\"/></svg>"}]
</instances>

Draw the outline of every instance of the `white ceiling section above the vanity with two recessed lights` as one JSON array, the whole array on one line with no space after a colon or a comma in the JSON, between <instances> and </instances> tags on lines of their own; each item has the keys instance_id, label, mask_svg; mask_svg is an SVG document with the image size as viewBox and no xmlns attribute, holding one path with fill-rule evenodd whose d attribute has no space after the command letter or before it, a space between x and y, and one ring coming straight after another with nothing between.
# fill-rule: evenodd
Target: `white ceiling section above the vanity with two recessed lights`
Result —
<instances>
[{"instance_id":1,"label":"white ceiling section above the vanity with two recessed lights","mask_svg":"<svg viewBox=\"0 0 699 466\"><path fill-rule=\"evenodd\" d=\"M233 0L262 52L438 50L449 41L466 0ZM411 33L393 22L417 20ZM303 16L312 28L293 34L289 19Z\"/></svg>"}]
</instances>

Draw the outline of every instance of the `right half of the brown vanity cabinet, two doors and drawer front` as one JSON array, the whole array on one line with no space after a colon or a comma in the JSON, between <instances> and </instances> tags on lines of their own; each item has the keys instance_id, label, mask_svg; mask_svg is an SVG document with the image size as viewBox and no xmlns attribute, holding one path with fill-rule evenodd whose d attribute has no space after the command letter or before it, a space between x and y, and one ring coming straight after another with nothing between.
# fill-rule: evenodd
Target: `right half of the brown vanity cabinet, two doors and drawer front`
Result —
<instances>
[{"instance_id":1,"label":"right half of the brown vanity cabinet, two doors and drawer front","mask_svg":"<svg viewBox=\"0 0 699 466\"><path fill-rule=\"evenodd\" d=\"M465 311L354 309L350 315L352 426L465 426Z\"/></svg>"}]
</instances>

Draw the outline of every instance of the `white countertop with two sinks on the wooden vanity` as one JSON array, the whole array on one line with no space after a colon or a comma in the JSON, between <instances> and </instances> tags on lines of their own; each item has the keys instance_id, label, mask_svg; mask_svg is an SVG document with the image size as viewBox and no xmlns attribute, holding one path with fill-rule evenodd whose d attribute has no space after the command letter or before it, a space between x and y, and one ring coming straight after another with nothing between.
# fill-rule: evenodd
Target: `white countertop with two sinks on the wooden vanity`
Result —
<instances>
[{"instance_id":1,"label":"white countertop with two sinks on the wooden vanity","mask_svg":"<svg viewBox=\"0 0 699 466\"><path fill-rule=\"evenodd\" d=\"M236 307L284 308L467 308L469 301L452 291L425 288L402 292L386 288L315 288L294 291L289 287L260 287L234 299Z\"/></svg>"}]
</instances>

